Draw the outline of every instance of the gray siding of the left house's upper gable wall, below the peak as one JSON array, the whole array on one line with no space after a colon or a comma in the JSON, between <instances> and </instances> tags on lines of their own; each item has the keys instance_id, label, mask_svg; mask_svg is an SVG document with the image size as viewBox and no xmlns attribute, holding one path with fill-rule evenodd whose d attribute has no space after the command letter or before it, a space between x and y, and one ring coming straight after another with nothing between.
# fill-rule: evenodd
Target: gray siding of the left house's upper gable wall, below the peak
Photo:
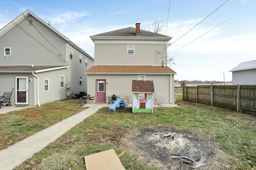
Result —
<instances>
[{"instance_id":1,"label":"gray siding of the left house's upper gable wall, below the peak","mask_svg":"<svg viewBox=\"0 0 256 170\"><path fill-rule=\"evenodd\" d=\"M28 25L28 20L33 20L34 27ZM0 38L0 65L65 65L63 60L66 56L66 41L34 17L29 16L28 20L24 19L18 25L47 49L15 26ZM8 59L4 56L4 47L11 48L11 56L8 56ZM61 52L62 61L58 57Z\"/></svg>"}]
</instances>

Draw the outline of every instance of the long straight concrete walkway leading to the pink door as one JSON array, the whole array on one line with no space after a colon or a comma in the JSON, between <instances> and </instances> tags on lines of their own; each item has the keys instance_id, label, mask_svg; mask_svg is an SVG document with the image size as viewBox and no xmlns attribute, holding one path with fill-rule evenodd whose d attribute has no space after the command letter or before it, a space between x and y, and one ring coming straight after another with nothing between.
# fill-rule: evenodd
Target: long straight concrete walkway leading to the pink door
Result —
<instances>
[{"instance_id":1,"label":"long straight concrete walkway leading to the pink door","mask_svg":"<svg viewBox=\"0 0 256 170\"><path fill-rule=\"evenodd\" d=\"M89 104L88 109L1 150L0 170L12 170L102 107L108 106L107 104Z\"/></svg>"}]
</instances>

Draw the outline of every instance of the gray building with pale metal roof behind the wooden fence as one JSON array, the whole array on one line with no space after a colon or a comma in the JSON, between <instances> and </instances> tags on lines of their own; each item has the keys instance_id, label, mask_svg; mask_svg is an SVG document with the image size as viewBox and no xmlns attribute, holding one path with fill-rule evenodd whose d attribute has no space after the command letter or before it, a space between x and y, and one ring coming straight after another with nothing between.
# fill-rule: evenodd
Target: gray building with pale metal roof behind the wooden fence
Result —
<instances>
[{"instance_id":1,"label":"gray building with pale metal roof behind the wooden fence","mask_svg":"<svg viewBox=\"0 0 256 170\"><path fill-rule=\"evenodd\" d=\"M230 72L233 85L256 85L256 60L240 63Z\"/></svg>"}]
</instances>

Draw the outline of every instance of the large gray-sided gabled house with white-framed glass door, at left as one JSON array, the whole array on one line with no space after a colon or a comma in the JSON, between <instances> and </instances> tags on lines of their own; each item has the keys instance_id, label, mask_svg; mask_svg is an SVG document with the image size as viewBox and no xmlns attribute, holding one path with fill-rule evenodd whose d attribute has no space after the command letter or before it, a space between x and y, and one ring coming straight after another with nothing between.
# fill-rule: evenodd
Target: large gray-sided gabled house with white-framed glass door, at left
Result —
<instances>
[{"instance_id":1,"label":"large gray-sided gabled house with white-framed glass door, at left","mask_svg":"<svg viewBox=\"0 0 256 170\"><path fill-rule=\"evenodd\" d=\"M0 96L35 106L87 92L94 59L51 25L26 10L0 29Z\"/></svg>"}]
</instances>

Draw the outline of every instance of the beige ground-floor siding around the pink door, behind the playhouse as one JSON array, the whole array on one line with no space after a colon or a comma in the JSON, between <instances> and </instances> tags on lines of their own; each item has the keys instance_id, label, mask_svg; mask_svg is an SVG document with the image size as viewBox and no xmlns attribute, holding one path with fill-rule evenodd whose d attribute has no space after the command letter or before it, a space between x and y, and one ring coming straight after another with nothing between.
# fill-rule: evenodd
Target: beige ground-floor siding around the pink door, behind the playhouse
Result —
<instances>
[{"instance_id":1,"label":"beige ground-floor siding around the pink door, behind the playhouse","mask_svg":"<svg viewBox=\"0 0 256 170\"><path fill-rule=\"evenodd\" d=\"M138 80L138 74L88 75L87 87L88 94L90 94L91 96L96 96L96 79L106 79L106 82L108 82L108 84L106 84L106 96L112 96L112 94L115 94L117 96L120 96L120 98L125 98L125 96L132 96L132 80ZM146 80L153 80L155 96L157 98L163 98L164 103L170 103L170 75L146 74ZM174 95L173 93L171 94L172 96Z\"/></svg>"}]
</instances>

